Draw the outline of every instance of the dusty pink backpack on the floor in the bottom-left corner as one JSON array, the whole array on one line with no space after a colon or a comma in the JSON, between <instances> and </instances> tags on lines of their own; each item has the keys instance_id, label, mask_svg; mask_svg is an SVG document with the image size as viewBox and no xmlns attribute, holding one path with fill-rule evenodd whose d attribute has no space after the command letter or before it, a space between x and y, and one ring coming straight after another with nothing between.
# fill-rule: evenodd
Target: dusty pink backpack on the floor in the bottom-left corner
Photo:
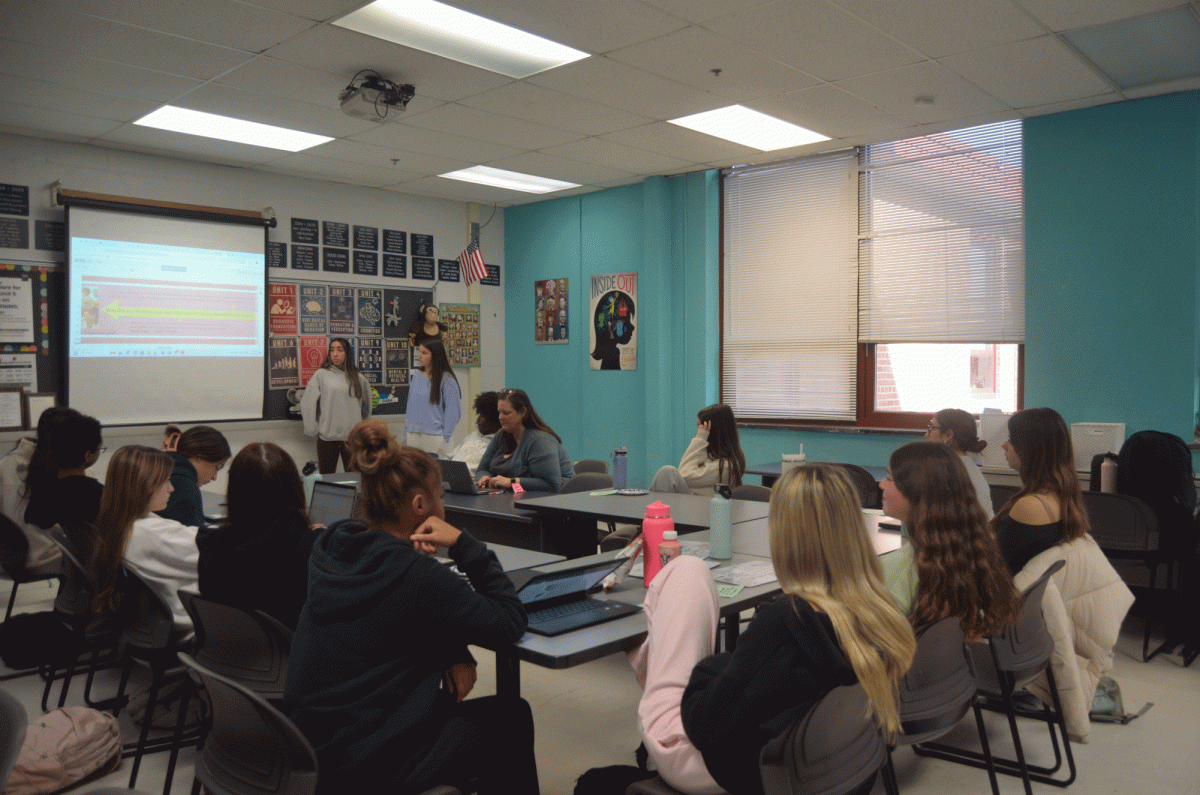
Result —
<instances>
[{"instance_id":1,"label":"dusty pink backpack on the floor in the bottom-left corner","mask_svg":"<svg viewBox=\"0 0 1200 795\"><path fill-rule=\"evenodd\" d=\"M106 775L121 761L120 727L108 712L70 706L29 722L4 795L48 795Z\"/></svg>"}]
</instances>

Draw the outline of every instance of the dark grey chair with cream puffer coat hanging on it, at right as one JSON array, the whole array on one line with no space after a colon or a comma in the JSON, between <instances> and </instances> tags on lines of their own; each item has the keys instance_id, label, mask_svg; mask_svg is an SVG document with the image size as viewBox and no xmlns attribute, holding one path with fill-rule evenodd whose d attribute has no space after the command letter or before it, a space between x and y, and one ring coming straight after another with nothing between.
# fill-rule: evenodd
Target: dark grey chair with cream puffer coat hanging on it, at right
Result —
<instances>
[{"instance_id":1,"label":"dark grey chair with cream puffer coat hanging on it, at right","mask_svg":"<svg viewBox=\"0 0 1200 795\"><path fill-rule=\"evenodd\" d=\"M1008 718L1013 748L1016 752L1015 760L991 757L991 764L1002 773L1020 776L1025 783L1026 795L1033 795L1033 788L1030 783L1032 781L1054 787L1068 787L1075 781L1075 758L1070 751L1070 739L1067 736L1062 704L1058 701L1058 686L1055 682L1054 667L1050 664L1050 657L1054 654L1054 638L1050 636L1045 618L1042 616L1042 598L1045 594L1046 584L1050 581L1050 576L1063 566L1066 566L1064 561L1056 561L1025 590L1025 602L1015 626L1009 627L1001 635L989 638L986 644L968 645L979 683L974 703L976 721L982 722L980 710L983 709L1003 712ZM1013 694L1040 676L1043 671L1046 675L1050 699L1054 703L1052 707L1043 706L1040 710L1026 710L1018 706L1013 700ZM1055 755L1052 766L1031 765L1025 760L1020 731L1016 728L1018 717L1046 723ZM1061 751L1058 735L1062 736ZM972 767L988 766L988 759L984 754L965 748L931 742L913 746L913 751L922 755L956 761ZM1063 760L1067 763L1067 777L1054 778L1054 775L1061 770Z\"/></svg>"}]
</instances>

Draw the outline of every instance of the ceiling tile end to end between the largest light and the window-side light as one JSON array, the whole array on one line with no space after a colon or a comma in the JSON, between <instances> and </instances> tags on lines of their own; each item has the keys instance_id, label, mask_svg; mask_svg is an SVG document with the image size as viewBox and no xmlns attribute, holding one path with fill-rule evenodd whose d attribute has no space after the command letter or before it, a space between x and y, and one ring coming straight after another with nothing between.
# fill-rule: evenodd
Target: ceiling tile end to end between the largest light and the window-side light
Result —
<instances>
[{"instance_id":1,"label":"ceiling tile end to end between the largest light and the window-side light","mask_svg":"<svg viewBox=\"0 0 1200 795\"><path fill-rule=\"evenodd\" d=\"M616 103L649 119L676 119L727 104L714 94L662 79L608 58L588 58L526 79L586 100Z\"/></svg>"}]
</instances>

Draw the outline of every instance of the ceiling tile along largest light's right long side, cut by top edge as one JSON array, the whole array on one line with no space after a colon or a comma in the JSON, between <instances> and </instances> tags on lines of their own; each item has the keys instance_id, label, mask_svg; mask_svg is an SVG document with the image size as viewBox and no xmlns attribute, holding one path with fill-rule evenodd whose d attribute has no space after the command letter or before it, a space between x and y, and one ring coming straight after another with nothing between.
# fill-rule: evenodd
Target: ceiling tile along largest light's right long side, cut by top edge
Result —
<instances>
[{"instance_id":1,"label":"ceiling tile along largest light's right long side, cut by top edge","mask_svg":"<svg viewBox=\"0 0 1200 795\"><path fill-rule=\"evenodd\" d=\"M640 0L547 2L546 0L455 0L450 5L560 44L599 55L661 36L686 23Z\"/></svg>"}]
</instances>

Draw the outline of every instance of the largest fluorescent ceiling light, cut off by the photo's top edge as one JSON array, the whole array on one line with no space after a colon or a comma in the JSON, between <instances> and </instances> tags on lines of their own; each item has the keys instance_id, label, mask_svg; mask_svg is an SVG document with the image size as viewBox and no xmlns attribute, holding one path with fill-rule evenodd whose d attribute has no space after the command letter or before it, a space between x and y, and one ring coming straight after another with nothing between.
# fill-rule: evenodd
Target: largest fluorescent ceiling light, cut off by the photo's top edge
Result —
<instances>
[{"instance_id":1,"label":"largest fluorescent ceiling light, cut off by the photo's top edge","mask_svg":"<svg viewBox=\"0 0 1200 795\"><path fill-rule=\"evenodd\" d=\"M518 79L588 56L434 0L376 0L334 24Z\"/></svg>"}]
</instances>

